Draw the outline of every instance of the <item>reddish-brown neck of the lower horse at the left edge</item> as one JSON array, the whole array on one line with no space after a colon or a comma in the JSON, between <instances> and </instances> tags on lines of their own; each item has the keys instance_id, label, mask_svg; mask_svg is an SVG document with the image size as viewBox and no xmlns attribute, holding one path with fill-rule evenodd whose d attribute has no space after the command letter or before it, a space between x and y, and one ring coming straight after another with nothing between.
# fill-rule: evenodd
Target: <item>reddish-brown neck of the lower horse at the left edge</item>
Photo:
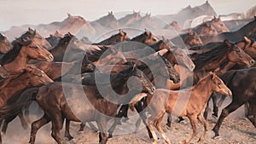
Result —
<instances>
[{"instance_id":1,"label":"reddish-brown neck of the lower horse at the left edge","mask_svg":"<svg viewBox=\"0 0 256 144\"><path fill-rule=\"evenodd\" d=\"M0 92L0 107L3 107L12 95L30 85L27 78L30 78L29 75L21 74L15 80L14 78L9 79L9 84L6 84Z\"/></svg>"}]
</instances>

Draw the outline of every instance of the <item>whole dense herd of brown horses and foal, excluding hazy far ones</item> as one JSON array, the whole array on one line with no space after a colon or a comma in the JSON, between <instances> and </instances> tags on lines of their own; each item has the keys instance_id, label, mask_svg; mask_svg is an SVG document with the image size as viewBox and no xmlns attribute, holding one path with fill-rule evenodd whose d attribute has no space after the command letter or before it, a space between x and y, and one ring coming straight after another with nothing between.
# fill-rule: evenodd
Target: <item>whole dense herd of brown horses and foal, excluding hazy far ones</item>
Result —
<instances>
[{"instance_id":1,"label":"whole dense herd of brown horses and foal, excluding hazy far ones","mask_svg":"<svg viewBox=\"0 0 256 144\"><path fill-rule=\"evenodd\" d=\"M158 141L154 127L166 143L171 143L161 128L165 113L168 126L172 115L180 120L189 118L193 134L182 143L189 143L197 135L198 119L204 126L198 140L202 143L209 129L208 102L212 98L212 115L218 117L225 96L232 96L232 101L213 128L215 136L224 118L243 104L255 127L256 17L236 32L229 32L215 17L193 29L179 31L184 33L160 39L148 30L130 38L119 29L108 39L90 45L69 32L45 38L28 28L12 43L1 34L2 132L17 116L27 129L25 117L32 101L36 101L44 115L32 122L31 144L38 130L49 122L52 137L58 144L63 143L60 130L64 121L68 140L73 139L69 132L71 121L81 123L80 130L87 122L93 127L90 122L95 121L99 143L107 143L116 125L121 124L119 118L128 119L129 108L137 110L137 124L143 120L153 143ZM81 95L86 95L83 104L78 102ZM219 101L218 95L222 95ZM74 112L76 107L83 110ZM108 130L111 119L113 125Z\"/></svg>"}]
</instances>

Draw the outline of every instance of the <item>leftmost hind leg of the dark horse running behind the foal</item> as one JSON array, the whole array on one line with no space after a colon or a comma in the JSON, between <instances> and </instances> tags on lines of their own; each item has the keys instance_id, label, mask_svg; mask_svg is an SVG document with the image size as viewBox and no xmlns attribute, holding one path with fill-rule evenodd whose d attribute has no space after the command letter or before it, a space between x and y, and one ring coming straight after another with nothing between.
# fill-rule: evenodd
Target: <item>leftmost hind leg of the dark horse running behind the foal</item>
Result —
<instances>
[{"instance_id":1,"label":"leftmost hind leg of the dark horse running behind the foal","mask_svg":"<svg viewBox=\"0 0 256 144\"><path fill-rule=\"evenodd\" d=\"M44 126L44 124L48 124L50 121L49 117L46 116L46 114L44 114L44 116L40 119L38 119L37 121L32 123L32 128L31 128L31 136L30 136L30 140L28 143L34 144L35 140L36 140L36 135L38 130Z\"/></svg>"}]
</instances>

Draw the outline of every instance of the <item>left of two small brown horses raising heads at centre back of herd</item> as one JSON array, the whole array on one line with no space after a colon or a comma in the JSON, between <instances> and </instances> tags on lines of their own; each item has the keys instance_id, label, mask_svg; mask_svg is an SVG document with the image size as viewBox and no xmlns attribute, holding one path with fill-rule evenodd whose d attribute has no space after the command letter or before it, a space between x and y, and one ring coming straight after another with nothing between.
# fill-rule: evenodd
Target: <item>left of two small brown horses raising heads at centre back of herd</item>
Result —
<instances>
[{"instance_id":1,"label":"left of two small brown horses raising heads at centre back of herd","mask_svg":"<svg viewBox=\"0 0 256 144\"><path fill-rule=\"evenodd\" d=\"M111 45L111 44L128 41L128 40L130 40L130 38L127 36L127 33L123 32L121 29L119 29L118 34L115 34L115 35L103 40L102 42L92 43L92 45Z\"/></svg>"}]
</instances>

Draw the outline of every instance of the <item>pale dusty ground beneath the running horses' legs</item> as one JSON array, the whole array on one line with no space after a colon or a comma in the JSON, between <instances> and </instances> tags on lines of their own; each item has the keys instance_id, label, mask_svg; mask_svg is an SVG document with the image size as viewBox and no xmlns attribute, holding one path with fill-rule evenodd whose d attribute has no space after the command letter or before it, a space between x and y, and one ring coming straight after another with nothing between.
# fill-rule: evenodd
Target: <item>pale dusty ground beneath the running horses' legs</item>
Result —
<instances>
[{"instance_id":1,"label":"pale dusty ground beneath the running horses' legs","mask_svg":"<svg viewBox=\"0 0 256 144\"><path fill-rule=\"evenodd\" d=\"M228 102L226 101L226 104ZM130 113L131 114L131 113ZM36 118L32 118L35 120ZM151 141L148 138L146 130L141 124L141 130L135 131L135 124L132 124L132 121L135 121L136 118L131 118L130 121L124 123L123 125L127 126L132 133L124 135L113 135L112 139L109 139L108 144L148 144ZM207 144L254 144L256 143L256 129L253 127L246 118L243 118L243 107L238 109L236 112L232 113L228 118L224 120L221 129L219 131L221 137L218 139L212 139L214 135L212 128L214 123L210 117L208 120L210 130L207 132L207 138L204 143ZM186 137L191 135L192 129L190 124L178 124L177 122L172 123L172 128L170 130L166 129L165 126L166 118L162 122L163 129L166 131L167 136L172 141L172 143L177 144L180 141L183 141ZM50 135L50 126L47 124L38 131L38 137L36 143L38 144L55 144L55 141ZM202 125L199 124L199 134L191 143L195 143L199 135L201 135ZM71 133L75 138L74 141L65 141L66 144L96 144L98 141L98 134L94 133L92 130L86 129L84 133L78 133L79 124L72 123ZM116 133L126 133L127 130L122 130L119 126L115 130ZM3 135L3 144L26 144L29 140L30 129L23 130L20 126L20 120L15 119L15 122L12 122L9 125L9 129L6 135ZM64 135L63 130L61 130L61 135ZM159 135L160 137L160 135ZM165 142L160 137L159 144L164 144Z\"/></svg>"}]
</instances>

